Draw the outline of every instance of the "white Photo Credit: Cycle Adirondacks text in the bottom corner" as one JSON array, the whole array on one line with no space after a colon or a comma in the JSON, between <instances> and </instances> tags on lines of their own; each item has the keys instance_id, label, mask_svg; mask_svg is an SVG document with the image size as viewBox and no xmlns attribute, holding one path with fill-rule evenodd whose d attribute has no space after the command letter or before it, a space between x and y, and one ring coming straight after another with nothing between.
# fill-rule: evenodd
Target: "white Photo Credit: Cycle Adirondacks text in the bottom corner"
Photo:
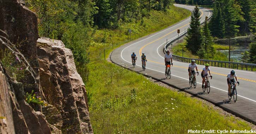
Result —
<instances>
[{"instance_id":1,"label":"white Photo Credit: Cycle Adirondacks text in the bottom corner","mask_svg":"<svg viewBox=\"0 0 256 134\"><path fill-rule=\"evenodd\" d=\"M236 130L236 129L233 129L233 130L213 130L213 129L210 129L210 130L192 130L192 129L189 129L187 130L187 133L188 134L255 134L256 133L256 130Z\"/></svg>"}]
</instances>

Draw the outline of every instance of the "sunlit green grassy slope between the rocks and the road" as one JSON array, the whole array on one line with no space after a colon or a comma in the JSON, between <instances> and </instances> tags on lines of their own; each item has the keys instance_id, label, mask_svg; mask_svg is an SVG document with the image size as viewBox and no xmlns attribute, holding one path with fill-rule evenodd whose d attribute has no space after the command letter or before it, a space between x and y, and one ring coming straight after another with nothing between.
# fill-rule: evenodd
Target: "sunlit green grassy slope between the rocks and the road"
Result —
<instances>
[{"instance_id":1,"label":"sunlit green grassy slope between the rocks and the road","mask_svg":"<svg viewBox=\"0 0 256 134\"><path fill-rule=\"evenodd\" d=\"M176 17L166 20L169 25L184 19L178 17L179 13L184 12L183 9L174 10L176 12L171 11L171 14ZM164 16L157 12L151 19L159 18L160 15ZM137 28L140 36L167 27L162 23L154 23L153 20L144 20L148 22L145 27L149 29ZM138 26L125 24L123 29L127 30L132 25L134 28ZM223 117L212 107L203 106L197 99L186 97L185 93L170 91L151 83L140 74L103 61L102 50L106 48L107 55L112 51L109 43L113 41L116 48L129 42L129 36L121 31L97 31L99 34L111 34L111 41L110 37L107 37L106 43L95 43L90 47L90 73L86 87L89 92L90 119L95 134L183 134L187 133L187 129L250 129L245 122L237 121L233 117ZM102 34L99 34L96 37L102 39ZM135 38L137 37L132 37ZM82 69L79 70L83 77Z\"/></svg>"}]
</instances>

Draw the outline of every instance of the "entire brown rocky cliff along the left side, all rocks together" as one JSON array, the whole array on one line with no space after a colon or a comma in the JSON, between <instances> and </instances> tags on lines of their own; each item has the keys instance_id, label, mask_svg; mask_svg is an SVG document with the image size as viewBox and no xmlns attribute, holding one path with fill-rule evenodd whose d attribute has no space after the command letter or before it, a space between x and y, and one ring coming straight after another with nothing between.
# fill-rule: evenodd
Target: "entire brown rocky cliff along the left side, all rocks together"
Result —
<instances>
[{"instance_id":1,"label":"entire brown rocky cliff along the left side, all rocks together","mask_svg":"<svg viewBox=\"0 0 256 134\"><path fill-rule=\"evenodd\" d=\"M0 62L0 134L93 134L86 89L71 50L61 41L38 39L36 14L23 0L0 0L0 30L0 50L5 43L15 44L34 70L33 77L26 73L17 82ZM35 111L24 99L32 90L48 105L33 106Z\"/></svg>"}]
</instances>

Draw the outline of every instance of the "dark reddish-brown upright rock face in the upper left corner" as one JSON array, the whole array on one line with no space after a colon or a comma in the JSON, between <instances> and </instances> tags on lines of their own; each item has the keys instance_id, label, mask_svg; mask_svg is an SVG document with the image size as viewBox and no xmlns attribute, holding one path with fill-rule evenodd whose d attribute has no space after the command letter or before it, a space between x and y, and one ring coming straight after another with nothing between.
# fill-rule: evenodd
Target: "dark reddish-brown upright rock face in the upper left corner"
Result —
<instances>
[{"instance_id":1,"label":"dark reddish-brown upright rock face in the upper left corner","mask_svg":"<svg viewBox=\"0 0 256 134\"><path fill-rule=\"evenodd\" d=\"M38 38L37 17L36 14L24 6L23 0L0 0L0 32L1 36L8 38L20 52L29 61L30 66L36 72L38 78L38 62L36 55L36 41ZM4 46L0 44L0 49ZM26 91L38 91L38 84L31 77L31 74L25 74L22 81ZM38 82L38 81L37 81Z\"/></svg>"}]
</instances>

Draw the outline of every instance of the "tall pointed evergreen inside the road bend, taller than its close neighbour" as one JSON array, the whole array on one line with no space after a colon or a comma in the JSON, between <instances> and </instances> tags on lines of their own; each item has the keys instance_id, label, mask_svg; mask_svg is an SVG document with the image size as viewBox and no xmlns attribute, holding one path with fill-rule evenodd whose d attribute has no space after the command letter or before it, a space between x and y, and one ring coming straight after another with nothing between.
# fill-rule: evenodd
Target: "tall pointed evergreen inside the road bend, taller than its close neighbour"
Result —
<instances>
[{"instance_id":1,"label":"tall pointed evergreen inside the road bend, taller than its close neighbour","mask_svg":"<svg viewBox=\"0 0 256 134\"><path fill-rule=\"evenodd\" d=\"M199 8L196 6L193 10L191 21L190 21L190 28L187 29L186 35L186 47L192 51L193 54L197 52L197 50L201 47L203 43L203 38L201 34L200 28L200 15L201 12Z\"/></svg>"}]
</instances>

